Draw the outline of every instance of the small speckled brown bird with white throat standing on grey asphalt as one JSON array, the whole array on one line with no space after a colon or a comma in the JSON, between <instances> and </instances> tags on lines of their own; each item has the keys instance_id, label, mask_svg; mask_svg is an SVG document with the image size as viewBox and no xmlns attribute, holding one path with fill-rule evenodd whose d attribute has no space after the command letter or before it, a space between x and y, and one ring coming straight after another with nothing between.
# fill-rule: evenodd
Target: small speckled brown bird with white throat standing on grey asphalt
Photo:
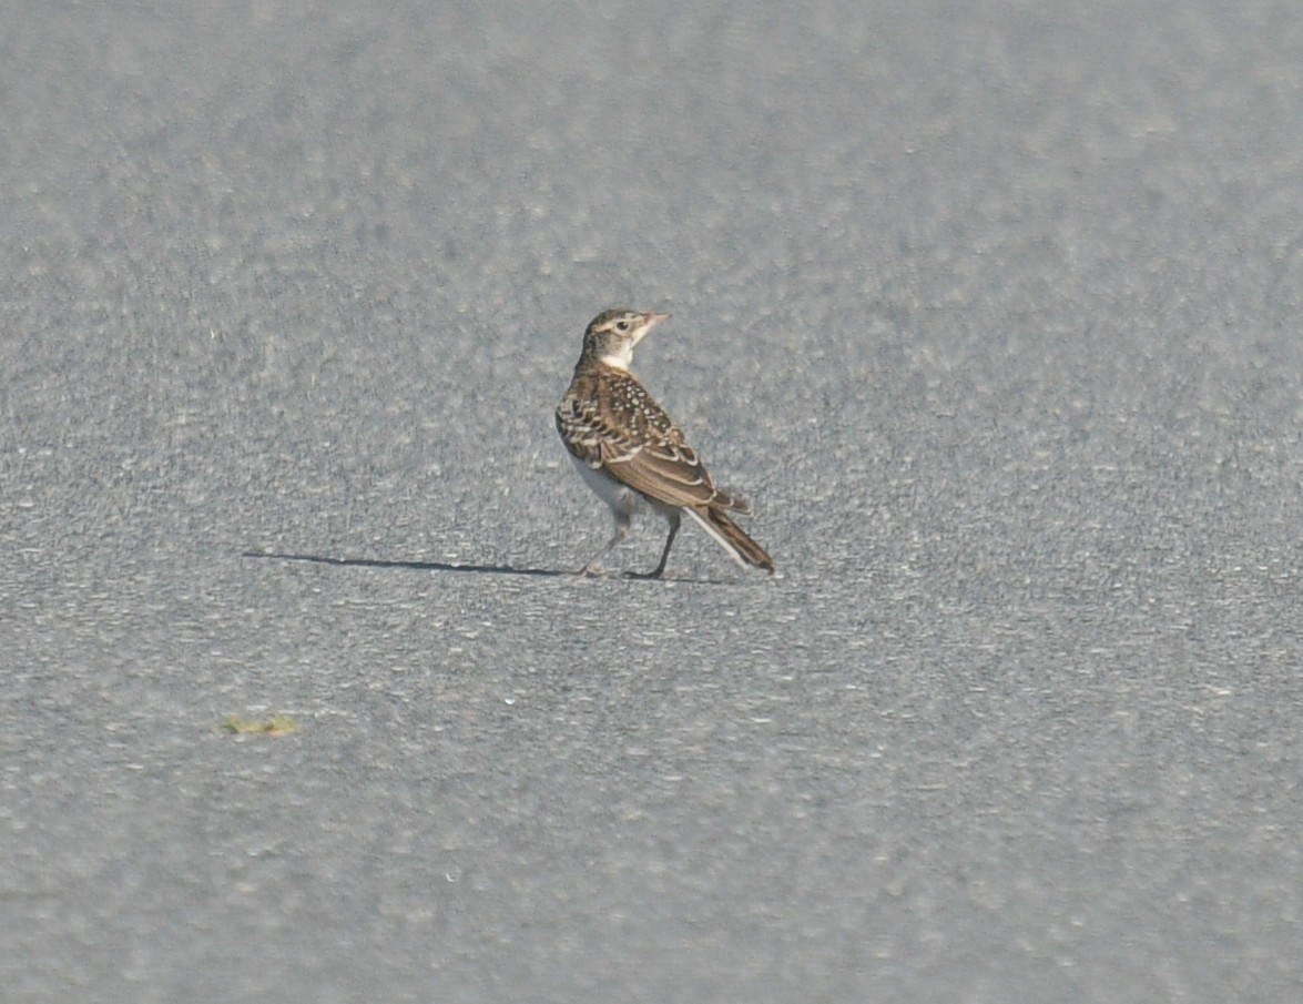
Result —
<instances>
[{"instance_id":1,"label":"small speckled brown bird with white throat standing on grey asphalt","mask_svg":"<svg viewBox=\"0 0 1303 1004\"><path fill-rule=\"evenodd\" d=\"M594 317L569 390L556 406L556 432L571 460L615 516L615 536L579 574L603 574L598 562L624 540L633 515L648 509L668 522L670 535L655 568L632 578L665 574L684 514L740 566L773 572L774 559L734 522L751 507L715 486L683 432L629 372L633 347L668 317L624 306Z\"/></svg>"}]
</instances>

